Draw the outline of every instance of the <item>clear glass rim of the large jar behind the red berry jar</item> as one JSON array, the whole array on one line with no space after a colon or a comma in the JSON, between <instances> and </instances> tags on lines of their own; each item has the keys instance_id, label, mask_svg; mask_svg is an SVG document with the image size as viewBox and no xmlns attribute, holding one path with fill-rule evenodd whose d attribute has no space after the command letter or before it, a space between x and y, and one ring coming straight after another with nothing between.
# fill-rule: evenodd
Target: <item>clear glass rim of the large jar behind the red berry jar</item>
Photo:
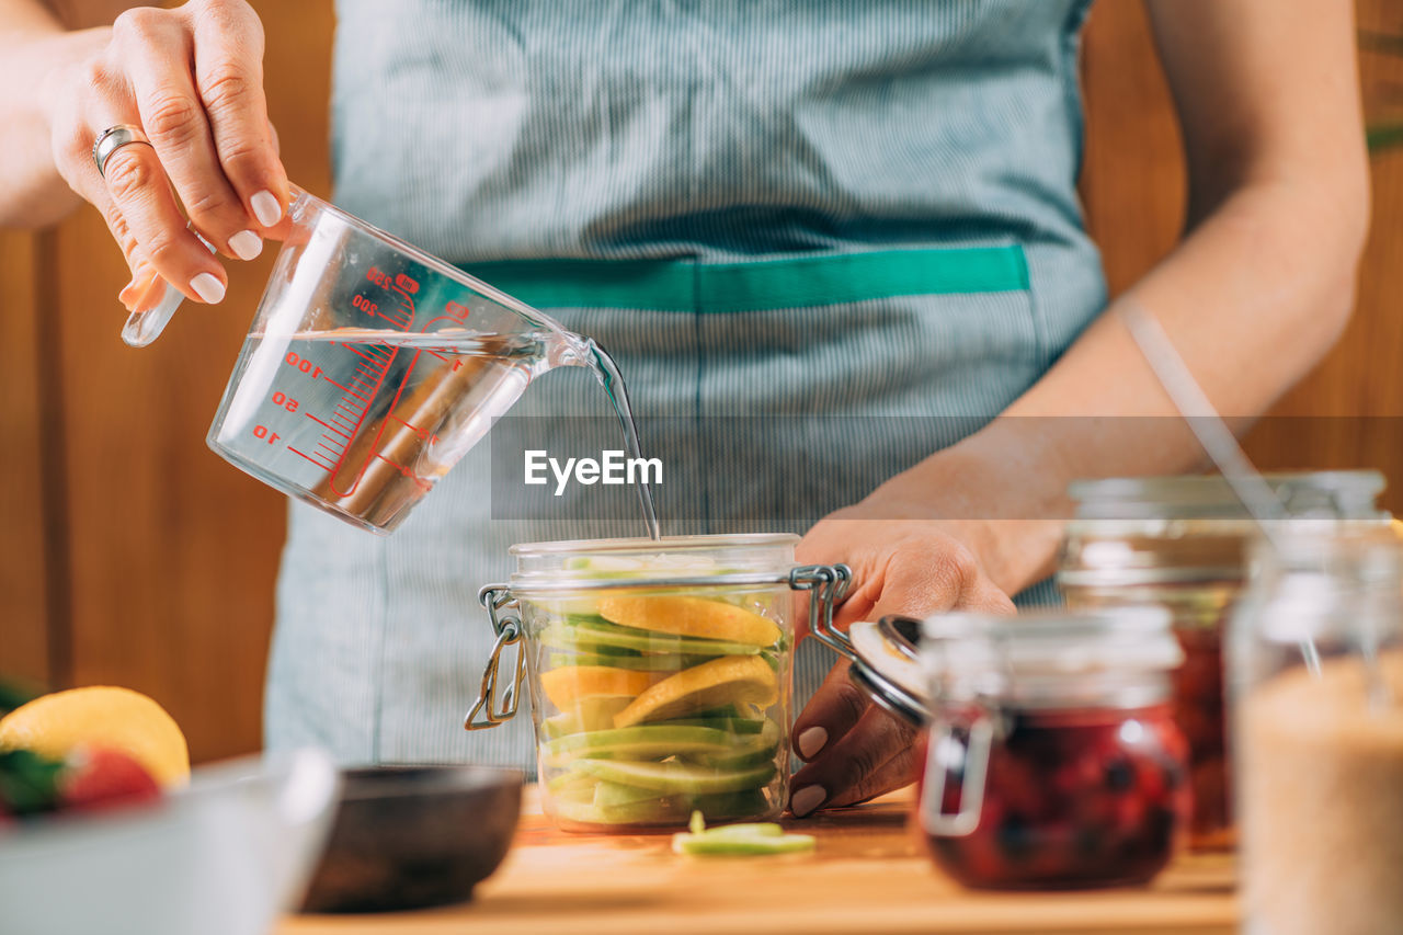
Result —
<instances>
[{"instance_id":1,"label":"clear glass rim of the large jar behind the red berry jar","mask_svg":"<svg viewBox=\"0 0 1403 935\"><path fill-rule=\"evenodd\" d=\"M1376 470L1315 470L1264 475L1291 517L1369 519L1386 482ZM1250 514L1222 475L1076 480L1068 494L1076 519L1243 519ZM1221 526L1216 526L1221 528Z\"/></svg>"}]
</instances>

